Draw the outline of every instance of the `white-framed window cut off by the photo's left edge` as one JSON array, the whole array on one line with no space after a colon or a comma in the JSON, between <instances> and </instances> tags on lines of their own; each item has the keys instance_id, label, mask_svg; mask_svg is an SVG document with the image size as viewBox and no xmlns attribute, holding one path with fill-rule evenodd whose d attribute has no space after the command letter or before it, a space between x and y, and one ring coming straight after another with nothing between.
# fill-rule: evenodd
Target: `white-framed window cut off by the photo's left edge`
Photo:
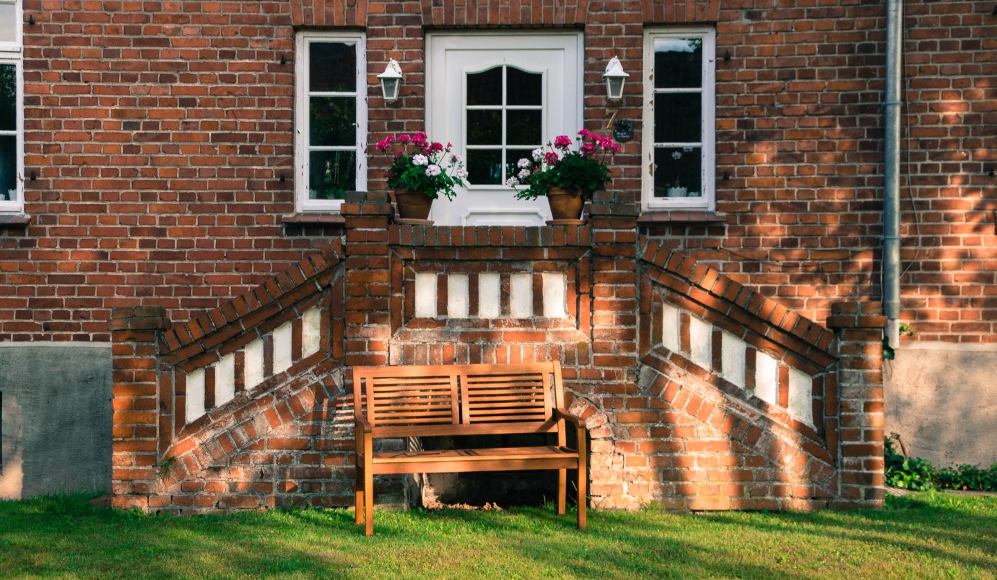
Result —
<instances>
[{"instance_id":1,"label":"white-framed window cut off by the photo's left edge","mask_svg":"<svg viewBox=\"0 0 997 580\"><path fill-rule=\"evenodd\" d=\"M0 212L24 210L21 4L0 0Z\"/></svg>"}]
</instances>

